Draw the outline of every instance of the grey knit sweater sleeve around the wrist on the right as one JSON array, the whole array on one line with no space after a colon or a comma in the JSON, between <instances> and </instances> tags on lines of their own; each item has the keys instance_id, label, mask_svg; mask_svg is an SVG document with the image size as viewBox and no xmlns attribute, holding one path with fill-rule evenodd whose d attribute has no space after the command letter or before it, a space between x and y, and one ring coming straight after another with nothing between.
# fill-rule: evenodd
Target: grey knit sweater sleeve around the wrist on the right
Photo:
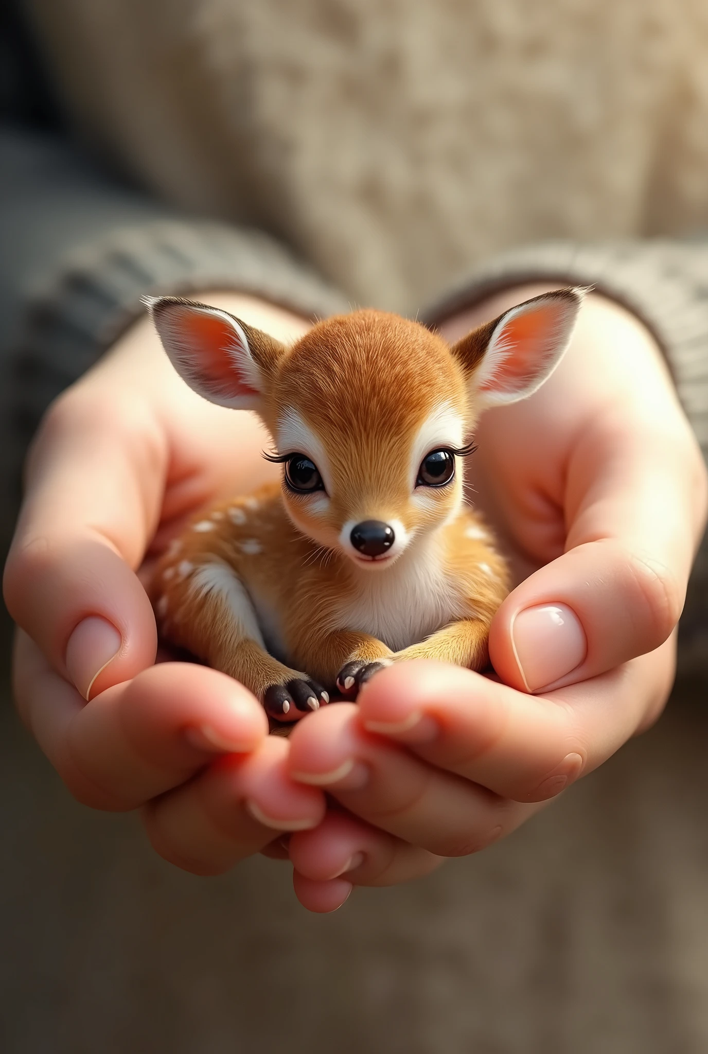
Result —
<instances>
[{"instance_id":1,"label":"grey knit sweater sleeve around the wrist on the right","mask_svg":"<svg viewBox=\"0 0 708 1054\"><path fill-rule=\"evenodd\" d=\"M708 239L577 245L552 241L488 260L424 314L436 325L493 293L529 281L592 286L632 311L662 348L708 462ZM680 626L680 670L708 669L708 535Z\"/></svg>"}]
</instances>

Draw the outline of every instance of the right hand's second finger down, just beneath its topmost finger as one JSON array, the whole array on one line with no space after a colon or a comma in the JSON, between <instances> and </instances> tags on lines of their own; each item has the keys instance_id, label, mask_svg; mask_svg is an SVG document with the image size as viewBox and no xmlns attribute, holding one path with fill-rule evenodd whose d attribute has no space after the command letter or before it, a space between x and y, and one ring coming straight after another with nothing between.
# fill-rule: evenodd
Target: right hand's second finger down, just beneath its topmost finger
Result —
<instances>
[{"instance_id":1,"label":"right hand's second finger down, just beneath its topmost finger","mask_svg":"<svg viewBox=\"0 0 708 1054\"><path fill-rule=\"evenodd\" d=\"M529 806L506 801L369 735L353 704L329 706L306 718L293 731L290 747L294 780L324 787L351 813L437 856L484 848L529 814Z\"/></svg>"}]
</instances>

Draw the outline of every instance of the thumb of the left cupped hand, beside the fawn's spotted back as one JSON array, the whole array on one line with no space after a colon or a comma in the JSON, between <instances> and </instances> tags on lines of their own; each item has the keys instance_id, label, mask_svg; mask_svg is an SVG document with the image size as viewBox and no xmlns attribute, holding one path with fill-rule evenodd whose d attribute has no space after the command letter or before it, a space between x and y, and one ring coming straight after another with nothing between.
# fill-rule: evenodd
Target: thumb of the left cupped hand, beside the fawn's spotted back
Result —
<instances>
[{"instance_id":1,"label":"thumb of the left cupped hand, beside the fawn's spotted back","mask_svg":"<svg viewBox=\"0 0 708 1054\"><path fill-rule=\"evenodd\" d=\"M157 523L166 458L137 397L70 392L36 441L5 602L84 698L154 662L155 619L134 569Z\"/></svg>"}]
</instances>

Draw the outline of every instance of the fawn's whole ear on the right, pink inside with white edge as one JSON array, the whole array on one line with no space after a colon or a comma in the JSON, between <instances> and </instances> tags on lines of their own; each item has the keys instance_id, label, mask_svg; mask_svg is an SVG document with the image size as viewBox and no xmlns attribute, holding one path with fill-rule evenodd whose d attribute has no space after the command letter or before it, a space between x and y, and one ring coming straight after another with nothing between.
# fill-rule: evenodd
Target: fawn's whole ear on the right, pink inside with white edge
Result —
<instances>
[{"instance_id":1,"label":"fawn's whole ear on the right, pink inside with white edge","mask_svg":"<svg viewBox=\"0 0 708 1054\"><path fill-rule=\"evenodd\" d=\"M534 296L454 345L479 409L516 403L540 388L570 344L585 293Z\"/></svg>"}]
</instances>

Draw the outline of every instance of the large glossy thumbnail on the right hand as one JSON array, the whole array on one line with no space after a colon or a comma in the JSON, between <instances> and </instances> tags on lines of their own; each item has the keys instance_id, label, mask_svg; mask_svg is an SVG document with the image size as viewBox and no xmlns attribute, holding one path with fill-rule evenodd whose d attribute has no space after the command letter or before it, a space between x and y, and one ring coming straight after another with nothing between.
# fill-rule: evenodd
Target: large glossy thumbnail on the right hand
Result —
<instances>
[{"instance_id":1,"label":"large glossy thumbnail on the right hand","mask_svg":"<svg viewBox=\"0 0 708 1054\"><path fill-rule=\"evenodd\" d=\"M528 691L538 691L579 666L588 642L579 619L566 604L543 604L519 611L511 642Z\"/></svg>"}]
</instances>

